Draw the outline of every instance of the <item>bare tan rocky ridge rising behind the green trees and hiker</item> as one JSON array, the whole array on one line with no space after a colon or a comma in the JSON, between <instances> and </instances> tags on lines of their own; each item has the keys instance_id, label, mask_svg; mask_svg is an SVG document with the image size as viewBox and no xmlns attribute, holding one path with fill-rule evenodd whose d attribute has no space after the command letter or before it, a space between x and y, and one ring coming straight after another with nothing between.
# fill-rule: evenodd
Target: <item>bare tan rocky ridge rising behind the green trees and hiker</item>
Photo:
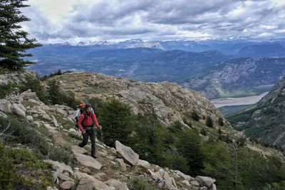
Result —
<instances>
[{"instance_id":1,"label":"bare tan rocky ridge rising behind the green trees and hiker","mask_svg":"<svg viewBox=\"0 0 285 190\"><path fill-rule=\"evenodd\" d=\"M176 83L141 83L96 73L66 73L54 79L61 81L61 88L71 90L83 99L99 97L105 100L115 97L130 105L135 114L154 111L165 125L175 120L183 123L184 113L193 110L202 116L209 115L216 121L219 117L224 118L201 93L181 88ZM224 121L230 126L227 120Z\"/></svg>"}]
</instances>

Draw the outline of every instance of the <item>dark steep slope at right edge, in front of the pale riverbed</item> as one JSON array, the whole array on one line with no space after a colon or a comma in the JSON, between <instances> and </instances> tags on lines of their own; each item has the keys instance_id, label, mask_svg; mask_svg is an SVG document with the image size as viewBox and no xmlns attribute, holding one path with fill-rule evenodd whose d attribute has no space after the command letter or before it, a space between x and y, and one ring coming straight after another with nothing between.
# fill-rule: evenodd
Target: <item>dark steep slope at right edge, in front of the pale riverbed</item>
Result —
<instances>
[{"instance_id":1,"label":"dark steep slope at right edge, in front of the pale riverbed","mask_svg":"<svg viewBox=\"0 0 285 190\"><path fill-rule=\"evenodd\" d=\"M282 78L256 105L230 116L229 121L248 137L285 149L284 89L285 78Z\"/></svg>"}]
</instances>

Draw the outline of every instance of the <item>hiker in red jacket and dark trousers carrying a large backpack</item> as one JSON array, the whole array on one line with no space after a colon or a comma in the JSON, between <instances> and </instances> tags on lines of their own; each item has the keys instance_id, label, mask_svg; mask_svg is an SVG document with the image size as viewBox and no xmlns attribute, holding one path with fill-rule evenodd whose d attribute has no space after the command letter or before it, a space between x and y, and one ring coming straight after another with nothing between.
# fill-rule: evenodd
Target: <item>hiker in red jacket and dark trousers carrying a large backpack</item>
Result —
<instances>
[{"instance_id":1,"label":"hiker in red jacket and dark trousers carrying a large backpack","mask_svg":"<svg viewBox=\"0 0 285 190\"><path fill-rule=\"evenodd\" d=\"M90 104L85 105L85 111L81 114L81 117L78 120L78 128L83 134L83 141L78 144L79 147L84 147L88 142L88 137L91 141L91 157L96 158L95 155L95 136L96 132L94 131L94 124L98 130L102 130L102 126L98 124L95 113L92 110Z\"/></svg>"}]
</instances>

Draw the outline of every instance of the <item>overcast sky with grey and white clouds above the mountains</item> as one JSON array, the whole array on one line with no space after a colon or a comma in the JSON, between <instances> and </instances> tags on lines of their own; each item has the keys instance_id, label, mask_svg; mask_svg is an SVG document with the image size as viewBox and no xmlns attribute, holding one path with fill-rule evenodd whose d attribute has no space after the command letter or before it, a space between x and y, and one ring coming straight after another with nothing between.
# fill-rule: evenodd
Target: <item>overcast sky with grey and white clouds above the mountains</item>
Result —
<instances>
[{"instance_id":1,"label":"overcast sky with grey and white clouds above the mountains","mask_svg":"<svg viewBox=\"0 0 285 190\"><path fill-rule=\"evenodd\" d=\"M40 42L285 37L285 0L29 0Z\"/></svg>"}]
</instances>

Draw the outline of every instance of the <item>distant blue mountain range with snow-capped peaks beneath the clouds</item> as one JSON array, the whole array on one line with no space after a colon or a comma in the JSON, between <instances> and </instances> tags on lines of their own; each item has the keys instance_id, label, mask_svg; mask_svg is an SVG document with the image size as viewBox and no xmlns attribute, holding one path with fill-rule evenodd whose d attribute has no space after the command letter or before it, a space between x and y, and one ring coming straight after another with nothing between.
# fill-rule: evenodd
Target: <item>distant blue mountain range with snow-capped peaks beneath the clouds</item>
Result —
<instances>
[{"instance_id":1,"label":"distant blue mountain range with snow-capped peaks beneath the clouds","mask_svg":"<svg viewBox=\"0 0 285 190\"><path fill-rule=\"evenodd\" d=\"M284 39L260 42L244 38L46 44L30 51L30 60L36 64L28 68L39 75L61 69L145 82L167 80L199 90L208 98L235 97L264 93L284 76L282 44ZM229 55L228 49L235 53Z\"/></svg>"}]
</instances>

